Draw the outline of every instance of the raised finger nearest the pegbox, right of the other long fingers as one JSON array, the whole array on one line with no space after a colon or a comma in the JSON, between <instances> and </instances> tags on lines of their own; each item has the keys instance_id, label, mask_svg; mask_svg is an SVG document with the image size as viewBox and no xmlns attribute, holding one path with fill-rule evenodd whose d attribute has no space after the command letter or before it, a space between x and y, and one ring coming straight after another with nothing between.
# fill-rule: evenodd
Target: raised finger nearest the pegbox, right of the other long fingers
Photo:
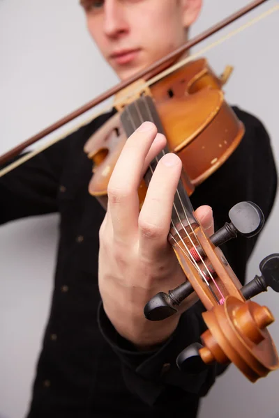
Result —
<instances>
[{"instance_id":1,"label":"raised finger nearest the pegbox, right of the other long fingers","mask_svg":"<svg viewBox=\"0 0 279 418\"><path fill-rule=\"evenodd\" d=\"M164 155L153 173L139 217L140 251L144 257L157 256L167 245L174 194L182 163L173 153Z\"/></svg>"}]
</instances>

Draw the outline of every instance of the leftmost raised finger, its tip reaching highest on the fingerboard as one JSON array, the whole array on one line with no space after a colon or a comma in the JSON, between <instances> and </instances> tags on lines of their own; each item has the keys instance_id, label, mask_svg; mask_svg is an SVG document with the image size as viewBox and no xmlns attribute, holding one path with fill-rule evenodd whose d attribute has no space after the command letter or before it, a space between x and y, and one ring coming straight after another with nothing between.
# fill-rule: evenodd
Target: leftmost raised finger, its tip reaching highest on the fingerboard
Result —
<instances>
[{"instance_id":1,"label":"leftmost raised finger, its tip reaching highest on the fingerboard","mask_svg":"<svg viewBox=\"0 0 279 418\"><path fill-rule=\"evenodd\" d=\"M137 230L140 210L137 189L156 134L156 125L143 123L126 141L112 172L107 195L116 239L126 240Z\"/></svg>"}]
</instances>

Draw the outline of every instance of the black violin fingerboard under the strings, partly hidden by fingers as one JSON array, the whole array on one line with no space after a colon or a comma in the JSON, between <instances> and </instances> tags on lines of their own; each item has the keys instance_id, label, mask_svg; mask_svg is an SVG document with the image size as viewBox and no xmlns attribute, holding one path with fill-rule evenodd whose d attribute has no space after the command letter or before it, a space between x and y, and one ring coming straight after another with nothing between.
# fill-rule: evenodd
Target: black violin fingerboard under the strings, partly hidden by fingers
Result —
<instances>
[{"instance_id":1,"label":"black violin fingerboard under the strings, partly hidden by fingers","mask_svg":"<svg viewBox=\"0 0 279 418\"><path fill-rule=\"evenodd\" d=\"M135 132L135 130L145 121L153 122L156 125L158 132L165 135L163 124L160 121L155 104L149 95L142 96L134 102L127 104L121 114L121 123L127 137L130 137L130 135L133 134L133 132ZM147 187L151 181L153 172L160 161L160 158L162 158L166 153L169 153L169 148L167 146L165 146L165 148L149 165L149 168L144 175ZM185 227L197 225L197 219L195 219L193 212L192 203L190 202L190 198L183 187L182 180L180 179L174 195L174 204L172 206L171 229L180 229L181 224Z\"/></svg>"}]
</instances>

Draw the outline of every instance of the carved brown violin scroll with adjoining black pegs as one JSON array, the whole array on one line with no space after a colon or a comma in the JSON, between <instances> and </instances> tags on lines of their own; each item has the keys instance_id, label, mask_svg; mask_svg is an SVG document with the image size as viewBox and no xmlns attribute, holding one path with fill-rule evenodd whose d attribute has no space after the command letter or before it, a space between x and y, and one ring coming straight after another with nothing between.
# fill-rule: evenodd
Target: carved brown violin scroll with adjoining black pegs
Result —
<instances>
[{"instance_id":1,"label":"carved brown violin scroll with adjoining black pegs","mask_svg":"<svg viewBox=\"0 0 279 418\"><path fill-rule=\"evenodd\" d=\"M209 327L201 336L202 344L190 344L176 359L181 371L199 373L206 364L234 362L251 381L278 369L279 360L266 327L274 318L267 307L250 301L250 297L273 288L279 292L279 254L271 254L259 265L262 276L255 276L241 289L248 302L228 297L223 306L202 314Z\"/></svg>"}]
</instances>

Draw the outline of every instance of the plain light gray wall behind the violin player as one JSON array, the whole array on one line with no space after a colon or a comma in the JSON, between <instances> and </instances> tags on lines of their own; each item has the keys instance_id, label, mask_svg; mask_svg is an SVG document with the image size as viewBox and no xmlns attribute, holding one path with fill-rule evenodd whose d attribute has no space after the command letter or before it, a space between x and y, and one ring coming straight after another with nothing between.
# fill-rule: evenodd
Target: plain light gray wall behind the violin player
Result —
<instances>
[{"instance_id":1,"label":"plain light gray wall behind the violin player","mask_svg":"<svg viewBox=\"0 0 279 418\"><path fill-rule=\"evenodd\" d=\"M243 3L205 0L193 35ZM268 1L249 19L274 4ZM207 54L218 73L225 65L234 65L225 87L227 100L264 121L277 161L278 16L278 12L271 15ZM222 34L247 20L243 18ZM77 0L1 0L0 56L0 153L117 82L86 33ZM277 200L250 260L249 279L259 273L264 256L279 250L278 205ZM48 215L0 229L1 418L21 418L27 410L50 308L58 222L56 215ZM256 300L267 304L279 320L275 293ZM270 331L279 346L278 321ZM204 400L199 417L279 417L278 383L279 371L252 385L231 366Z\"/></svg>"}]
</instances>

